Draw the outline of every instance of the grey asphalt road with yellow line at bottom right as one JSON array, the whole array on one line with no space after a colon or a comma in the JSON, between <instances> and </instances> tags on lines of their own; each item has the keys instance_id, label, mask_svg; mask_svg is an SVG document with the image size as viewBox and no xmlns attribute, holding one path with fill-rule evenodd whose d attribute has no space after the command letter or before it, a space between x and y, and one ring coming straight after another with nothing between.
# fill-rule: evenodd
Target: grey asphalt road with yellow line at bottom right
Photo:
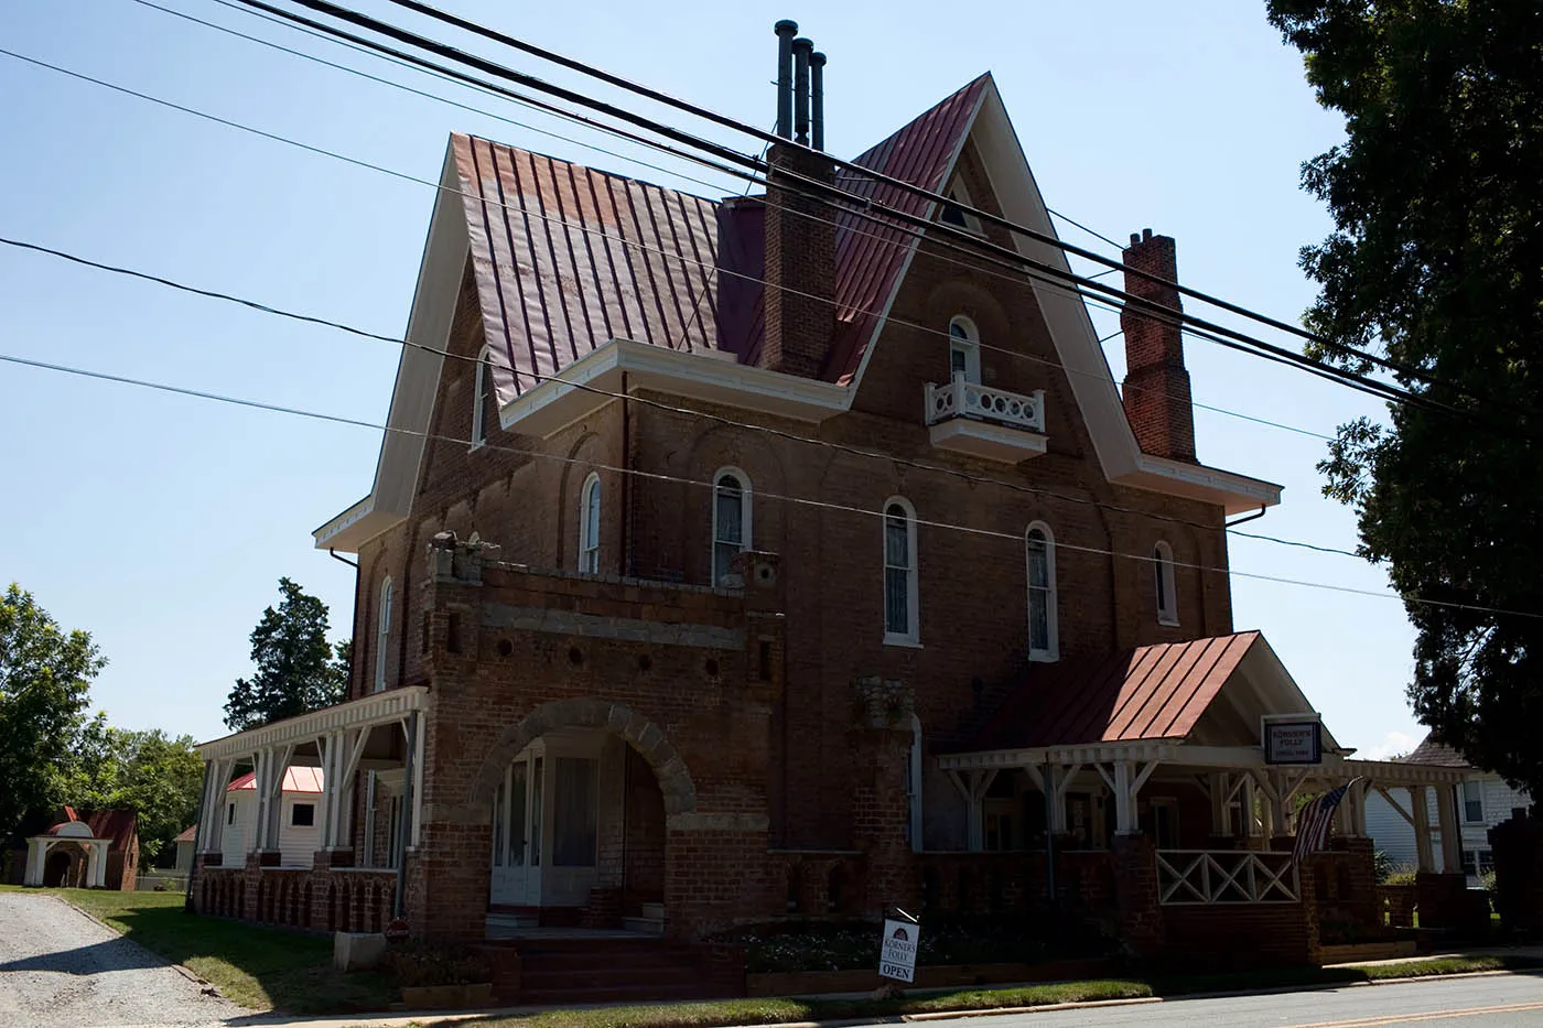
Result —
<instances>
[{"instance_id":1,"label":"grey asphalt road with yellow line at bottom right","mask_svg":"<svg viewBox=\"0 0 1543 1028\"><path fill-rule=\"evenodd\" d=\"M1543 977L1495 974L1469 979L1361 985L1310 992L1180 999L1097 1009L978 1017L969 1028L1538 1028Z\"/></svg>"}]
</instances>

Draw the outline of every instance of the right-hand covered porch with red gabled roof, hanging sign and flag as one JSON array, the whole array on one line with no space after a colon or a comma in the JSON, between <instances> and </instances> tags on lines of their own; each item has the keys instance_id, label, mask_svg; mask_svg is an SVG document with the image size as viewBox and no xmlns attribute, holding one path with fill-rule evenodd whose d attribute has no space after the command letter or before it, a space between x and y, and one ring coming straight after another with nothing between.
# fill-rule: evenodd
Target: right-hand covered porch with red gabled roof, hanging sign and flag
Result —
<instances>
[{"instance_id":1,"label":"right-hand covered porch with red gabled roof, hanging sign and flag","mask_svg":"<svg viewBox=\"0 0 1543 1028\"><path fill-rule=\"evenodd\" d=\"M1460 844L1458 773L1355 759L1258 633L1048 668L938 769L969 852L1023 854L1046 898L1102 905L1145 955L1234 962L1248 942L1310 963L1321 945L1407 925L1407 897L1376 884L1369 790L1437 789L1443 846ZM1322 847L1298 860L1304 804L1341 787ZM1423 813L1409 812L1424 872L1412 901L1423 928L1458 928L1466 883L1433 874Z\"/></svg>"}]
</instances>

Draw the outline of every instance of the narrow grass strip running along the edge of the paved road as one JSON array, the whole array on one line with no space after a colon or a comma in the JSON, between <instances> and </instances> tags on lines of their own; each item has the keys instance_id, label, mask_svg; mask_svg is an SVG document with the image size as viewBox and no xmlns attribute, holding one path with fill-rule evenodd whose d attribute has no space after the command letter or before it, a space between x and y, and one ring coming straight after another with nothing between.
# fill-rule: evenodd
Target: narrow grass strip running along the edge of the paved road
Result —
<instances>
[{"instance_id":1,"label":"narrow grass strip running along the edge of the paved road","mask_svg":"<svg viewBox=\"0 0 1543 1028\"><path fill-rule=\"evenodd\" d=\"M1185 977L1133 977L1099 982L1052 982L1000 989L957 989L895 1000L744 999L707 1003L660 1003L606 1006L599 1009L552 1009L522 1017L477 1020L478 1028L721 1028L724 1025L778 1025L798 1020L849 1017L898 1017L938 1011L1045 1006L1091 1000L1193 996L1196 992L1310 988L1350 985L1463 971L1520 971L1538 968L1535 960L1514 957L1452 957L1409 960L1375 968L1282 968L1239 974ZM426 1022L427 1028L452 1028L452 1022ZM460 1022L464 1025L464 1022Z\"/></svg>"}]
</instances>

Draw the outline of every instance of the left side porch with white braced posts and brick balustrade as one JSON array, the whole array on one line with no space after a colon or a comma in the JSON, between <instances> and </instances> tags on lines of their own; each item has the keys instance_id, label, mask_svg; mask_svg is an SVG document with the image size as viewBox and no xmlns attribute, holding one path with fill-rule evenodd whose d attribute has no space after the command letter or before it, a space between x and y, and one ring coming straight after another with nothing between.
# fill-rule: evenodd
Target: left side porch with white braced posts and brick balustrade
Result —
<instances>
[{"instance_id":1,"label":"left side porch with white braced posts and brick balustrade","mask_svg":"<svg viewBox=\"0 0 1543 1028\"><path fill-rule=\"evenodd\" d=\"M194 906L326 931L381 931L400 917L418 838L426 705L427 688L393 688L201 746ZM296 767L316 769L321 784L309 860L281 846L284 781ZM242 775L252 776L252 824L238 824L227 803Z\"/></svg>"}]
</instances>

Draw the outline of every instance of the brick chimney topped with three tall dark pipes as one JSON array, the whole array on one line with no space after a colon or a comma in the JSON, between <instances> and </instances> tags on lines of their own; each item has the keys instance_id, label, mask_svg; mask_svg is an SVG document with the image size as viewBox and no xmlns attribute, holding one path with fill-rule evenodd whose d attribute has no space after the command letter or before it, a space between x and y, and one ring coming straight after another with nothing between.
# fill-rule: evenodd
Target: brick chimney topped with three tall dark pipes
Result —
<instances>
[{"instance_id":1,"label":"brick chimney topped with three tall dark pipes","mask_svg":"<svg viewBox=\"0 0 1543 1028\"><path fill-rule=\"evenodd\" d=\"M778 127L776 134L804 147L813 125L824 139L824 54L813 52L807 39L793 39L798 25L778 22ZM815 73L810 113L810 71ZM796 130L796 137L795 137ZM818 199L790 190L810 185L788 178L799 174L835 182L835 168L818 154L787 144L773 144L765 207L765 343L761 366L819 378L836 327L836 227L833 211Z\"/></svg>"}]
</instances>

